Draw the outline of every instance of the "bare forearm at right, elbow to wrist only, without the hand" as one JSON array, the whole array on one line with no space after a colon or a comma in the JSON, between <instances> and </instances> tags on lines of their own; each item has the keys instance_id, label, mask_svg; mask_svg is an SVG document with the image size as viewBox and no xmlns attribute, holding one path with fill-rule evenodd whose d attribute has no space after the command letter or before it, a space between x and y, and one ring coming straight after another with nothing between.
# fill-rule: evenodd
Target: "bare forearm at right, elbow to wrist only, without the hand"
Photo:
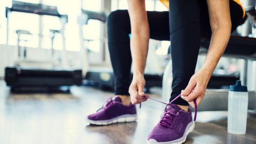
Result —
<instances>
[{"instance_id":1,"label":"bare forearm at right, elbow to wrist only, without the hand","mask_svg":"<svg viewBox=\"0 0 256 144\"><path fill-rule=\"evenodd\" d=\"M230 39L231 23L225 23L223 26L218 26L212 31L211 42L209 50L201 69L204 69L206 75L212 75L215 67L218 64L221 56L223 55L227 43Z\"/></svg>"}]
</instances>

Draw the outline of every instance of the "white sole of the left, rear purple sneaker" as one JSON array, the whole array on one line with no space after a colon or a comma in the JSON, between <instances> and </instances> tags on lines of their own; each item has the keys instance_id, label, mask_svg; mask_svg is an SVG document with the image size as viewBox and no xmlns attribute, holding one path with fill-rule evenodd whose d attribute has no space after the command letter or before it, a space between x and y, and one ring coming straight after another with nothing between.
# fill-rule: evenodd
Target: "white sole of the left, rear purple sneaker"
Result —
<instances>
[{"instance_id":1,"label":"white sole of the left, rear purple sneaker","mask_svg":"<svg viewBox=\"0 0 256 144\"><path fill-rule=\"evenodd\" d=\"M137 120L137 114L135 115L121 115L116 118L112 118L110 120L104 120L104 121L93 121L88 118L85 119L90 124L95 125L108 125L108 124L114 124L114 123L124 123L124 122L133 122Z\"/></svg>"}]
</instances>

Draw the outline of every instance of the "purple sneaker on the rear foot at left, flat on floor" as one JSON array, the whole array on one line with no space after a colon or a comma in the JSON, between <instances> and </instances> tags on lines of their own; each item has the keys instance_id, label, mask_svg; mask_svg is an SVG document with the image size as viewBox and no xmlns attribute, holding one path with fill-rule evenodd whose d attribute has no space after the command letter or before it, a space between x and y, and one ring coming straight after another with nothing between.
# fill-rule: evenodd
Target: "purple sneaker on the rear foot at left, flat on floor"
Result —
<instances>
[{"instance_id":1,"label":"purple sneaker on the rear foot at left, flat on floor","mask_svg":"<svg viewBox=\"0 0 256 144\"><path fill-rule=\"evenodd\" d=\"M119 97L108 98L102 108L88 115L86 121L90 124L108 125L121 122L136 121L137 112L133 104L125 106Z\"/></svg>"}]
</instances>

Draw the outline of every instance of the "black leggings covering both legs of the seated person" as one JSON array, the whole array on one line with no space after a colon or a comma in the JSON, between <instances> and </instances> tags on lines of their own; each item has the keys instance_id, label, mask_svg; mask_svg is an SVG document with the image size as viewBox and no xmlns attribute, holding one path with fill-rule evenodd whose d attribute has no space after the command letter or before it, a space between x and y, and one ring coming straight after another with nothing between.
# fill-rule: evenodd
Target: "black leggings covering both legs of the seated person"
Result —
<instances>
[{"instance_id":1,"label":"black leggings covering both legs of the seated person","mask_svg":"<svg viewBox=\"0 0 256 144\"><path fill-rule=\"evenodd\" d=\"M147 12L150 38L170 40L172 55L172 94L170 101L185 89L195 73L200 40L211 36L205 0L169 0L169 12ZM243 10L230 0L232 30L243 20ZM131 33L127 10L111 12L108 17L108 49L115 75L115 95L129 95L131 84ZM189 105L182 98L174 104Z\"/></svg>"}]
</instances>

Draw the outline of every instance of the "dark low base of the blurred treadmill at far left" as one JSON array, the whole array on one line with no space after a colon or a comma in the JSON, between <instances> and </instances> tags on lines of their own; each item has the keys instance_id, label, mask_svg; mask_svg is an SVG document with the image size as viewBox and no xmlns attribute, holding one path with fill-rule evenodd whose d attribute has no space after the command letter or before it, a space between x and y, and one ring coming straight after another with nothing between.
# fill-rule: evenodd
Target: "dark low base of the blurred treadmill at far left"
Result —
<instances>
[{"instance_id":1,"label":"dark low base of the blurred treadmill at far left","mask_svg":"<svg viewBox=\"0 0 256 144\"><path fill-rule=\"evenodd\" d=\"M5 81L11 86L12 92L27 91L58 91L61 86L81 85L81 70L73 69L30 69L6 67Z\"/></svg>"}]
</instances>

